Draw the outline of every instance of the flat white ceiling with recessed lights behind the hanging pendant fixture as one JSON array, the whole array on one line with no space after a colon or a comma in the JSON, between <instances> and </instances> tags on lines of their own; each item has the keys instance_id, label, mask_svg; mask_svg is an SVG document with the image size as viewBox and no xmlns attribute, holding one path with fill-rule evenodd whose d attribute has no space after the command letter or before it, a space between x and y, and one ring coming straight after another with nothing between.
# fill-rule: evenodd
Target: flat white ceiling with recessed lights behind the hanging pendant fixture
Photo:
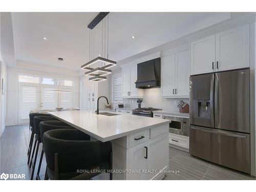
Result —
<instances>
[{"instance_id":1,"label":"flat white ceiling with recessed lights behind the hanging pendant fixture","mask_svg":"<svg viewBox=\"0 0 256 192\"><path fill-rule=\"evenodd\" d=\"M87 25L97 14L12 13L16 59L79 70L89 61ZM111 12L109 58L122 60L228 18L230 14L223 12ZM101 30L95 38L101 36L99 33ZM101 52L101 40L95 39L95 42L95 50ZM58 61L58 57L64 61Z\"/></svg>"}]
</instances>

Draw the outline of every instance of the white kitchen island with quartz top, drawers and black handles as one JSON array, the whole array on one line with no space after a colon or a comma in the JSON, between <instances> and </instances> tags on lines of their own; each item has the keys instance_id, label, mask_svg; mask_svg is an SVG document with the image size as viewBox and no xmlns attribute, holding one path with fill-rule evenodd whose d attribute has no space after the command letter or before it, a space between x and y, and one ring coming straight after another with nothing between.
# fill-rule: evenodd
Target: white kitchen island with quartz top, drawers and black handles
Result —
<instances>
[{"instance_id":1,"label":"white kitchen island with quartz top, drawers and black handles","mask_svg":"<svg viewBox=\"0 0 256 192\"><path fill-rule=\"evenodd\" d=\"M93 111L49 114L99 141L112 142L113 179L164 177L169 164L169 120L108 112L97 115Z\"/></svg>"}]
</instances>

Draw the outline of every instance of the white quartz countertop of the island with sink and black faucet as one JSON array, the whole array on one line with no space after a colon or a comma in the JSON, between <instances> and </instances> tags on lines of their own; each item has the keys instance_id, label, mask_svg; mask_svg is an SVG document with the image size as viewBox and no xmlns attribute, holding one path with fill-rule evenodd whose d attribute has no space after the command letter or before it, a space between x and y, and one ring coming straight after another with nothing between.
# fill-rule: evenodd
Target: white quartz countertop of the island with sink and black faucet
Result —
<instances>
[{"instance_id":1,"label":"white quartz countertop of the island with sink and black faucet","mask_svg":"<svg viewBox=\"0 0 256 192\"><path fill-rule=\"evenodd\" d=\"M49 114L102 142L170 122L166 119L129 114L96 115L94 111L56 111Z\"/></svg>"}]
</instances>

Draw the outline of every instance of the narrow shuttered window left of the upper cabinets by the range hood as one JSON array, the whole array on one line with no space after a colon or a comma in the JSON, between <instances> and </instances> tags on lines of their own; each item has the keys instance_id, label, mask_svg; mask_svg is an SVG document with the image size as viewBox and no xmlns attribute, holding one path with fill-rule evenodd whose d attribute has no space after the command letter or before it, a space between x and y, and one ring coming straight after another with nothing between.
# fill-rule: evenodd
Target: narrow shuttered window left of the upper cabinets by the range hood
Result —
<instances>
[{"instance_id":1,"label":"narrow shuttered window left of the upper cabinets by the range hood","mask_svg":"<svg viewBox=\"0 0 256 192\"><path fill-rule=\"evenodd\" d=\"M113 102L123 102L122 98L122 75L112 76L112 100Z\"/></svg>"}]
</instances>

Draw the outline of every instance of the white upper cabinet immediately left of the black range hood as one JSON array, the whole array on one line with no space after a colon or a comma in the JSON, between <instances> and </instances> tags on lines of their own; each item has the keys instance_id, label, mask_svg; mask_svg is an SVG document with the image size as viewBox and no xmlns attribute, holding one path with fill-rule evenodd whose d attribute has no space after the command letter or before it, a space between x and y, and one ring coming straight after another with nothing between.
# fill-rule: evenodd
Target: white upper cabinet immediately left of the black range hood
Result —
<instances>
[{"instance_id":1,"label":"white upper cabinet immediately left of the black range hood","mask_svg":"<svg viewBox=\"0 0 256 192\"><path fill-rule=\"evenodd\" d=\"M122 97L124 98L142 98L143 90L137 89L137 65L124 67L122 69Z\"/></svg>"}]
</instances>

